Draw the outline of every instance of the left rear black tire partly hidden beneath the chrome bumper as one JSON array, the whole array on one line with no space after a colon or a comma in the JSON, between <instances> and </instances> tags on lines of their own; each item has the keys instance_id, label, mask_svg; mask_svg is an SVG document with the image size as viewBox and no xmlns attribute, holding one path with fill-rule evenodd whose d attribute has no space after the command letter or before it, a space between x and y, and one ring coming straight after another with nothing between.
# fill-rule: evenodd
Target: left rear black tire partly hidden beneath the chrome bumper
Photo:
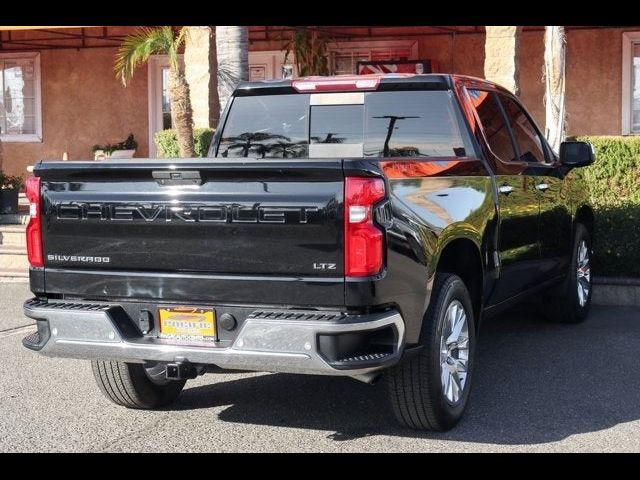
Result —
<instances>
[{"instance_id":1,"label":"left rear black tire partly hidden beneath the chrome bumper","mask_svg":"<svg viewBox=\"0 0 640 480\"><path fill-rule=\"evenodd\" d=\"M153 409L174 402L186 380L166 380L162 376L162 364L145 365L103 360L93 360L93 376L102 393L113 403L128 408ZM149 370L147 370L149 369ZM152 380L147 373L158 378Z\"/></svg>"}]
</instances>

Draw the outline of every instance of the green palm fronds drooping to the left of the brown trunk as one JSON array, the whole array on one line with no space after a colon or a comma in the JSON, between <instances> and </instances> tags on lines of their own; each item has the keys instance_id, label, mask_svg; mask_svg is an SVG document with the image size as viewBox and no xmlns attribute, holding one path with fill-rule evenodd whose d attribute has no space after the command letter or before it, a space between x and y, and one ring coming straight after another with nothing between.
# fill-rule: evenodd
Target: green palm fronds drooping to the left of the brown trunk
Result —
<instances>
[{"instance_id":1,"label":"green palm fronds drooping to the left of the brown trunk","mask_svg":"<svg viewBox=\"0 0 640 480\"><path fill-rule=\"evenodd\" d=\"M174 49L173 37L171 27L142 27L127 36L116 54L114 66L116 77L126 85L127 81L133 77L135 69L154 54L169 55L172 62L172 57L175 55L177 61L177 50Z\"/></svg>"}]
</instances>

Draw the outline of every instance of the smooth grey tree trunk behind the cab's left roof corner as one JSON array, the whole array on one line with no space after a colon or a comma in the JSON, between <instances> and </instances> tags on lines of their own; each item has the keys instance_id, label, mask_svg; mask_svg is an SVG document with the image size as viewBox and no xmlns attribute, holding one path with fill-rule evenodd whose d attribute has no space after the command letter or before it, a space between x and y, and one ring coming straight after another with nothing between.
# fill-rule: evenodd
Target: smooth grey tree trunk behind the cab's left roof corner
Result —
<instances>
[{"instance_id":1,"label":"smooth grey tree trunk behind the cab's left roof corner","mask_svg":"<svg viewBox=\"0 0 640 480\"><path fill-rule=\"evenodd\" d=\"M249 80L248 27L216 27L218 51L218 96L224 110L233 90L242 80Z\"/></svg>"}]
</instances>

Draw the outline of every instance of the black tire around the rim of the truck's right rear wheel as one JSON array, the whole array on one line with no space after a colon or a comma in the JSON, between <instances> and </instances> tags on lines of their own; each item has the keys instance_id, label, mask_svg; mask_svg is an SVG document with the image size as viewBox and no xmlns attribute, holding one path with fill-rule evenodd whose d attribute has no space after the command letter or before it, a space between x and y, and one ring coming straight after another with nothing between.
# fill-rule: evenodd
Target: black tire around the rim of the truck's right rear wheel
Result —
<instances>
[{"instance_id":1,"label":"black tire around the rim of the truck's right rear wheel","mask_svg":"<svg viewBox=\"0 0 640 480\"><path fill-rule=\"evenodd\" d=\"M457 401L445 396L441 382L441 344L448 308L457 300L467 317L468 363ZM459 308L459 307L458 307ZM422 349L385 373L387 394L398 422L418 430L445 431L462 418L469 399L475 353L475 322L471 297L457 275L437 273L431 302L420 333Z\"/></svg>"}]
</instances>

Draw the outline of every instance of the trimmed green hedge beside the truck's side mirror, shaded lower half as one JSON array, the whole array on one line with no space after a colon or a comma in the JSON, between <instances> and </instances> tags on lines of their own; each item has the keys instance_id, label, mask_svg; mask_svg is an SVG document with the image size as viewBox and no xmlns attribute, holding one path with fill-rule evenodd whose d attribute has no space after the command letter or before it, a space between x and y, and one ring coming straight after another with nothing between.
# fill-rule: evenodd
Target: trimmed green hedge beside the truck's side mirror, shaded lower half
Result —
<instances>
[{"instance_id":1,"label":"trimmed green hedge beside the truck's side mirror, shaded lower half","mask_svg":"<svg viewBox=\"0 0 640 480\"><path fill-rule=\"evenodd\" d=\"M596 161L575 170L595 210L597 275L640 277L640 137L577 137Z\"/></svg>"}]
</instances>

